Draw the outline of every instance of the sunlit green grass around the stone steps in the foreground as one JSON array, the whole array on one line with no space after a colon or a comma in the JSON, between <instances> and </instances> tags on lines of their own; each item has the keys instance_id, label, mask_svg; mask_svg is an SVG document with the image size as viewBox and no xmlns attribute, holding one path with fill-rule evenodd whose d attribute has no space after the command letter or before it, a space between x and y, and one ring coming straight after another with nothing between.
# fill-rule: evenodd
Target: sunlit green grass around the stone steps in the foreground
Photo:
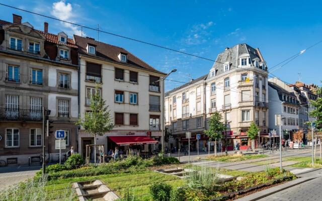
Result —
<instances>
[{"instance_id":1,"label":"sunlit green grass around the stone steps in the foreground","mask_svg":"<svg viewBox=\"0 0 322 201\"><path fill-rule=\"evenodd\" d=\"M155 182L165 182L173 187L178 187L184 184L184 181L173 175L162 174L150 170L132 172L132 173L117 173L110 175L99 175L90 177L73 177L67 179L57 179L48 181L45 189L48 193L62 193L66 187L71 186L72 182L100 179L109 188L115 190L118 195L123 195L128 188L134 193L139 200L149 200L149 186ZM52 193L54 197L56 193Z\"/></svg>"}]
</instances>

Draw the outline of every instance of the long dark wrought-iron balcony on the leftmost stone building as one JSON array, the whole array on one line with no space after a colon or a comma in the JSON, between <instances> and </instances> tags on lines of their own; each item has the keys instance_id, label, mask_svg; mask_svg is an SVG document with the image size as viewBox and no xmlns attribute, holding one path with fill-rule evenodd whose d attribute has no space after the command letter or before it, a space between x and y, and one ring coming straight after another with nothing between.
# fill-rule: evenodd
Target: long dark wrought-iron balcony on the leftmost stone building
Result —
<instances>
[{"instance_id":1,"label":"long dark wrought-iron balcony on the leftmost stone building","mask_svg":"<svg viewBox=\"0 0 322 201\"><path fill-rule=\"evenodd\" d=\"M0 121L42 121L41 110L0 108Z\"/></svg>"}]
</instances>

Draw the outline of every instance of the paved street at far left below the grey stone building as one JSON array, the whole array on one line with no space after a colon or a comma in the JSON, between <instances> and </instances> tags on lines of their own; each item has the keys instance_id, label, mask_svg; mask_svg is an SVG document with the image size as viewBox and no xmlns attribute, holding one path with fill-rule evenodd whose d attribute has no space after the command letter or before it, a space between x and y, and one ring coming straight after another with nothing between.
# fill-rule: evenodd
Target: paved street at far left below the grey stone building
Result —
<instances>
[{"instance_id":1,"label":"paved street at far left below the grey stone building","mask_svg":"<svg viewBox=\"0 0 322 201\"><path fill-rule=\"evenodd\" d=\"M41 166L9 166L0 168L0 191L32 178Z\"/></svg>"}]
</instances>

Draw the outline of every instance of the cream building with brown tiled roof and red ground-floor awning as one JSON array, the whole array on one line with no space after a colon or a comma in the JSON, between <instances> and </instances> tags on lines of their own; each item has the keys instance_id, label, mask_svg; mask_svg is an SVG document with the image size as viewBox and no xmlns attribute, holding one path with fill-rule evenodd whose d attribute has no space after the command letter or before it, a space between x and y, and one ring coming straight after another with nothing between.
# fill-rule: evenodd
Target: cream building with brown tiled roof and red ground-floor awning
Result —
<instances>
[{"instance_id":1,"label":"cream building with brown tiled roof and red ground-floor awning","mask_svg":"<svg viewBox=\"0 0 322 201\"><path fill-rule=\"evenodd\" d=\"M143 146L146 151L158 149L164 107L162 81L158 80L165 74L121 47L76 35L74 41L80 61L81 117L90 112L90 94L99 84L99 93L114 121L111 132L97 136L97 144L104 144L106 152L116 146L123 151L130 146ZM86 145L93 144L94 137L81 128L78 143L78 152L85 156Z\"/></svg>"}]
</instances>

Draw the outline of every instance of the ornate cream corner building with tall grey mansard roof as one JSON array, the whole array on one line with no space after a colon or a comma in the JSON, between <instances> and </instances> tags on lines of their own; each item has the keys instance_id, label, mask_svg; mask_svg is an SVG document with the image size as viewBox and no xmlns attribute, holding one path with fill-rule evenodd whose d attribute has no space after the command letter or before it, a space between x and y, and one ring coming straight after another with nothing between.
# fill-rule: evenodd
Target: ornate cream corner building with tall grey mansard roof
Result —
<instances>
[{"instance_id":1,"label":"ornate cream corner building with tall grey mansard roof","mask_svg":"<svg viewBox=\"0 0 322 201\"><path fill-rule=\"evenodd\" d=\"M248 44L237 44L218 54L206 76L168 92L165 101L169 106L166 122L169 130L172 130L176 145L181 147L183 143L180 142L186 141L183 136L186 131L194 134L193 140L195 140L195 134L203 134L203 130L207 129L207 120L215 111L220 112L223 119L226 116L228 150L232 150L236 143L241 145L241 149L247 148L249 143L247 131L252 122L259 126L264 140L264 136L268 133L267 69L258 48ZM201 88L198 89L198 87ZM197 93L200 94L200 98L194 95ZM176 105L176 111L172 108L170 112L174 98L180 105L179 108ZM190 112L187 112L187 103L189 103ZM173 104L172 107L174 106ZM194 132L190 126L189 129L183 130L187 123L197 125L199 116L202 117L200 131ZM193 119L196 120L193 121ZM205 141L208 139L204 135L203 137L202 143L205 146Z\"/></svg>"}]
</instances>

